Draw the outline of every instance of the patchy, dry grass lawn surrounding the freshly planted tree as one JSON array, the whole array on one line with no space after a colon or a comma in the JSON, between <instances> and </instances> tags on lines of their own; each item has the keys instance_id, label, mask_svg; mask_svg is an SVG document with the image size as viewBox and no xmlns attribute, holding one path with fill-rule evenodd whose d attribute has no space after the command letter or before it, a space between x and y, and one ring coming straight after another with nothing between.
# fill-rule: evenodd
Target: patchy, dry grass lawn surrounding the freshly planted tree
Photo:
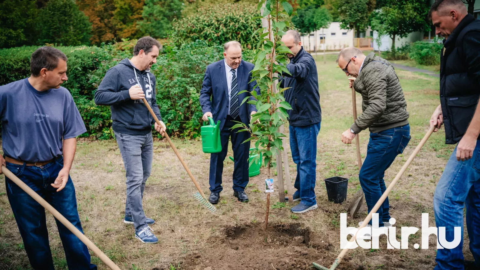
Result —
<instances>
[{"instance_id":1,"label":"patchy, dry grass lawn surrounding the freshly planted tree","mask_svg":"<svg viewBox=\"0 0 480 270\"><path fill-rule=\"evenodd\" d=\"M270 199L270 205L275 205L275 208L270 209L269 224L277 231L263 235L260 225L265 218L266 196L262 189L266 170L262 169L260 175L250 178L246 189L250 202L241 204L233 197L233 163L226 159L224 190L216 213L211 214L197 205L192 197L196 189L168 143L156 141L152 175L145 188L144 210L148 217L156 220L152 228L159 243L145 245L134 239L133 228L122 222L126 197L125 171L116 142L80 141L71 176L85 235L121 269L264 270L273 266L277 270L287 270L309 269L312 261L331 264L340 252L340 213L346 212L360 184L355 144L345 145L340 141L341 133L353 121L351 89L348 88L347 77L335 63L336 55L327 55L326 59L326 64L323 56L319 56L317 61L322 106L315 188L318 209L292 215L289 212L291 205L284 207L278 203L275 184L276 192ZM403 70L396 72L408 104L412 139L404 153L386 171L386 184L393 180L428 130L428 120L439 104L438 78ZM356 97L360 114L361 97ZM368 131L360 133L363 158L368 138ZM173 141L208 196L210 156L202 152L200 141ZM430 225L433 226L433 192L452 149L453 146L444 145L444 131L440 130L431 136L417 155L389 196L390 213L396 218L397 226L420 228L422 212L430 214ZM290 152L288 154L291 155ZM230 148L228 155L232 155ZM295 178L296 165L291 156L289 169L292 178ZM343 204L327 200L324 179L331 176L349 179L348 198ZM22 239L5 195L4 180L0 181L0 269L29 269ZM358 218L348 218L348 226L357 226L366 215L364 205ZM56 269L67 269L54 219L50 214L47 217ZM285 226L290 225L308 231L309 241L304 239L301 242L300 237L299 242L298 235L281 234ZM285 240L281 240L282 235ZM338 269L355 269L355 265L360 264L363 269L372 270L432 269L435 264L433 237L430 249L418 250L413 248L413 244L420 243L417 240L420 231L410 237L409 249L386 249L385 239L381 238L378 250L351 250ZM468 237L464 246L466 258L472 259L468 251ZM96 256L93 255L92 260L99 269L106 269Z\"/></svg>"}]
</instances>

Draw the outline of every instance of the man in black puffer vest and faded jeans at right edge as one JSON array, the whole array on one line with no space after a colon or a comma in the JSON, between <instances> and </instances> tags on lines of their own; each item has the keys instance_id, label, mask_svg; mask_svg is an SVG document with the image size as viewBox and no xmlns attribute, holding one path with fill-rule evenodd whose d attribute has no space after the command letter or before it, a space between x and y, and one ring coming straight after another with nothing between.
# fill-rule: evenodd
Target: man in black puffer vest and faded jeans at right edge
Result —
<instances>
[{"instance_id":1,"label":"man in black puffer vest and faded jeans at right edge","mask_svg":"<svg viewBox=\"0 0 480 270\"><path fill-rule=\"evenodd\" d=\"M445 227L444 237L438 237L444 248L438 248L435 270L480 269L480 21L468 14L461 0L436 0L429 17L436 34L445 37L440 58L440 105L430 123L436 126L435 131L444 124L446 144L458 143L433 196L436 226ZM475 258L465 266L464 204L470 251ZM454 237L454 227L461 228L461 237ZM442 234L440 229L438 232ZM449 246L447 242L452 241Z\"/></svg>"}]
</instances>

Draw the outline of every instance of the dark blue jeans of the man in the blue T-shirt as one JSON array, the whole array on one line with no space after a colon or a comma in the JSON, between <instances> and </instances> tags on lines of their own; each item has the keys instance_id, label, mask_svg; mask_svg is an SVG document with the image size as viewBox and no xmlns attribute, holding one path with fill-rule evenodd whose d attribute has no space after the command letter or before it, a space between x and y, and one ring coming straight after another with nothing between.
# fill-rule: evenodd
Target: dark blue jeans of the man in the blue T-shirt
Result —
<instances>
[{"instance_id":1,"label":"dark blue jeans of the man in the blue T-shirt","mask_svg":"<svg viewBox=\"0 0 480 270\"><path fill-rule=\"evenodd\" d=\"M6 165L8 170L44 198L83 233L78 217L72 178L69 176L67 184L59 192L50 185L55 182L58 173L63 168L63 157L42 166L43 168L16 165L9 162ZM53 270L45 209L7 177L5 177L5 185L8 200L24 240L25 251L30 264L33 269ZM68 268L71 270L96 269L96 265L90 263L90 254L86 245L57 219L55 221L65 250Z\"/></svg>"}]
</instances>

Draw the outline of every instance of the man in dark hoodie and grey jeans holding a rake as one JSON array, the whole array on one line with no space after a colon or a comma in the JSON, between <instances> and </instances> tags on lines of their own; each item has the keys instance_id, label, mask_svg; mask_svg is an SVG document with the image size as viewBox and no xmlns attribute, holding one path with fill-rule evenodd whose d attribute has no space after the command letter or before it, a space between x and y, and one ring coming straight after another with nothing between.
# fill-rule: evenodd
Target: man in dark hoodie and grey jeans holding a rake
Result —
<instances>
[{"instance_id":1,"label":"man in dark hoodie and grey jeans holding a rake","mask_svg":"<svg viewBox=\"0 0 480 270\"><path fill-rule=\"evenodd\" d=\"M160 134L166 130L156 105L156 80L150 68L156 63L161 49L152 37L142 37L133 48L132 59L125 58L105 74L95 93L96 105L108 105L112 112L112 129L117 138L127 177L127 203L123 222L135 226L135 238L143 243L154 244L158 238L149 225L153 219L145 217L142 198L145 182L150 176L153 160L153 117L148 112L143 98L147 100L160 126Z\"/></svg>"}]
</instances>

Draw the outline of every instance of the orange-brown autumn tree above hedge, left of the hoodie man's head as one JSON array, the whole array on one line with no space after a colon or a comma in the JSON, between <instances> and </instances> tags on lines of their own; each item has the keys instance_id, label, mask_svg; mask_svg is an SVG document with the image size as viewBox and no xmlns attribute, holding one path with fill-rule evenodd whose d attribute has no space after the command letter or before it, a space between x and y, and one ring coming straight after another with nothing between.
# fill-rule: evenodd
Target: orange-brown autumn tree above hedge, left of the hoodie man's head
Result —
<instances>
[{"instance_id":1,"label":"orange-brown autumn tree above hedge, left of the hoodie man's head","mask_svg":"<svg viewBox=\"0 0 480 270\"><path fill-rule=\"evenodd\" d=\"M120 41L113 20L116 9L114 0L77 0L77 5L92 24L92 44Z\"/></svg>"}]
</instances>

